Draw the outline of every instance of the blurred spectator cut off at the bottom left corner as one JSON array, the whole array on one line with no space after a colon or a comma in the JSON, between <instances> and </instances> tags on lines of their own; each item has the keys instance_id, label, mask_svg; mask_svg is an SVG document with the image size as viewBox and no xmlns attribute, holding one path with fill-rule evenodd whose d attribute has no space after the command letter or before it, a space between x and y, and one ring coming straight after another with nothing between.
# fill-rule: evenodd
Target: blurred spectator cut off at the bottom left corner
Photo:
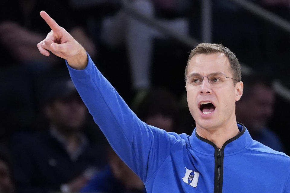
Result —
<instances>
[{"instance_id":1,"label":"blurred spectator cut off at the bottom left corner","mask_svg":"<svg viewBox=\"0 0 290 193\"><path fill-rule=\"evenodd\" d=\"M0 192L13 193L14 184L11 176L11 158L2 146L0 146Z\"/></svg>"}]
</instances>

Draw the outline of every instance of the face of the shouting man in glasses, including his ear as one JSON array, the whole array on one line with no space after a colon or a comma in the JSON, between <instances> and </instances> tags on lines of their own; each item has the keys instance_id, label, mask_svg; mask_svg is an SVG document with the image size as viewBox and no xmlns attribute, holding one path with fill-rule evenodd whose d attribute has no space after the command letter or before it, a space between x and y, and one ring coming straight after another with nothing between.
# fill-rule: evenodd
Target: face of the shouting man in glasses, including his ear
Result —
<instances>
[{"instance_id":1,"label":"face of the shouting man in glasses, including his ear","mask_svg":"<svg viewBox=\"0 0 290 193\"><path fill-rule=\"evenodd\" d=\"M223 53L193 56L189 61L187 76L191 74L233 78L230 63ZM206 77L199 86L186 83L188 107L197 128L214 129L236 121L235 102L242 96L243 83L234 86L233 81L223 79L219 87L212 87Z\"/></svg>"}]
</instances>

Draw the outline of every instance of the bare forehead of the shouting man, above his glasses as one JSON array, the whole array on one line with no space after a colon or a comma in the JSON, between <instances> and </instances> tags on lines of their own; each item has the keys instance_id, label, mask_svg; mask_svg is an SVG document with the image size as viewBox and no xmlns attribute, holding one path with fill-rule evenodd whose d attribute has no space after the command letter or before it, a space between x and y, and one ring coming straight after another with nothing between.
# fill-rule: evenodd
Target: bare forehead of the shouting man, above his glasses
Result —
<instances>
[{"instance_id":1,"label":"bare forehead of the shouting man, above his glasses","mask_svg":"<svg viewBox=\"0 0 290 193\"><path fill-rule=\"evenodd\" d=\"M188 64L187 74L208 75L215 72L230 75L230 62L224 53L197 54Z\"/></svg>"}]
</instances>

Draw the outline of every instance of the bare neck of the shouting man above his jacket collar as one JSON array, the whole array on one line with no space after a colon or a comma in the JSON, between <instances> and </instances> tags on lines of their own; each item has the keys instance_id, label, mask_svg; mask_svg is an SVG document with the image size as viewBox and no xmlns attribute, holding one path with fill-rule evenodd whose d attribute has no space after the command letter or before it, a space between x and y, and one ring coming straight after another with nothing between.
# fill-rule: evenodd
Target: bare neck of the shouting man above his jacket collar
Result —
<instances>
[{"instance_id":1,"label":"bare neck of the shouting man above his jacket collar","mask_svg":"<svg viewBox=\"0 0 290 193\"><path fill-rule=\"evenodd\" d=\"M217 148L221 148L227 140L240 133L236 121L234 123L210 129L202 128L196 124L196 132L202 138L213 142Z\"/></svg>"}]
</instances>

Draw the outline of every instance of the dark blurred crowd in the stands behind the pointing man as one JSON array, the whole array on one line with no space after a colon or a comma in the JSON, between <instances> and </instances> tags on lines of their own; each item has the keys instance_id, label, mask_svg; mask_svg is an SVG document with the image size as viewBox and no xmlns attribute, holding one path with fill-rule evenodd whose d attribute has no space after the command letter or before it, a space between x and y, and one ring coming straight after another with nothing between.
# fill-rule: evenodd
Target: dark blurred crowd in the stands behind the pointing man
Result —
<instances>
[{"instance_id":1,"label":"dark blurred crowd in the stands behind the pointing man","mask_svg":"<svg viewBox=\"0 0 290 193\"><path fill-rule=\"evenodd\" d=\"M128 0L179 35L201 40L201 0ZM252 2L290 19L286 0ZM252 138L290 154L288 108L272 81L288 82L290 36L229 0L212 0L212 41L253 68L243 74L237 122ZM168 132L195 128L184 69L192 49L126 13L121 0L0 2L0 193L146 192L114 153L69 78L65 62L37 43L45 10L82 44L138 117ZM201 42L199 42L201 43Z\"/></svg>"}]
</instances>

